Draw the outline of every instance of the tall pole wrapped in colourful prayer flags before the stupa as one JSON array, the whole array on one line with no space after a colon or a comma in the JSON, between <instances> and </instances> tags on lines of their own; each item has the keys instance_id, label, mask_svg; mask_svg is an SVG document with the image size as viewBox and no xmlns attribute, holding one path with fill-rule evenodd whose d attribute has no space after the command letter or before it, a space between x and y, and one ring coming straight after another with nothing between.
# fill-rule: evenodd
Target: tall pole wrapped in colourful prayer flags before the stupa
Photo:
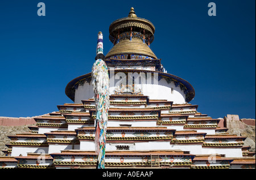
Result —
<instances>
[{"instance_id":1,"label":"tall pole wrapped in colourful prayer flags before the stupa","mask_svg":"<svg viewBox=\"0 0 256 180\"><path fill-rule=\"evenodd\" d=\"M97 153L97 169L105 168L106 128L109 110L109 73L103 54L103 35L98 32L96 62L92 67L92 84L96 105L95 151Z\"/></svg>"}]
</instances>

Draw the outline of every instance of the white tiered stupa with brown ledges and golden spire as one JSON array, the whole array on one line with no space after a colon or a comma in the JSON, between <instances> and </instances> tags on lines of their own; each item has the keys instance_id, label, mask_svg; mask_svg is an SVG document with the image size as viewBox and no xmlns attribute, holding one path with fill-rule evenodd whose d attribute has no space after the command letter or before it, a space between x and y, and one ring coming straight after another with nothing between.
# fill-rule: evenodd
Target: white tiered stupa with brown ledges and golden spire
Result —
<instances>
[{"instance_id":1,"label":"white tiered stupa with brown ledges and golden spire","mask_svg":"<svg viewBox=\"0 0 256 180\"><path fill-rule=\"evenodd\" d=\"M154 33L154 25L138 18L134 8L110 24L105 168L255 168L255 157L243 147L246 137L228 134L218 127L220 119L189 104L195 90L167 73L150 48ZM9 136L0 167L96 168L91 72L71 80L65 93L74 103L35 118L30 132Z\"/></svg>"}]
</instances>

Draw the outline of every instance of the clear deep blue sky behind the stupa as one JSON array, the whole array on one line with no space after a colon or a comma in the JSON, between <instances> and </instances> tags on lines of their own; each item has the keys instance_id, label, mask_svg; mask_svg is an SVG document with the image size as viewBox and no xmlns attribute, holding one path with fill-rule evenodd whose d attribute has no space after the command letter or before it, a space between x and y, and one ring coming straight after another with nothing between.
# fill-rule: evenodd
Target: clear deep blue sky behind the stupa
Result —
<instances>
[{"instance_id":1,"label":"clear deep blue sky behind the stupa","mask_svg":"<svg viewBox=\"0 0 256 180\"><path fill-rule=\"evenodd\" d=\"M46 16L38 16L44 2ZM214 2L217 16L208 16ZM212 118L255 118L255 1L0 1L0 116L32 117L72 102L66 85L91 72L97 33L134 7L156 28L152 51L195 88Z\"/></svg>"}]
</instances>

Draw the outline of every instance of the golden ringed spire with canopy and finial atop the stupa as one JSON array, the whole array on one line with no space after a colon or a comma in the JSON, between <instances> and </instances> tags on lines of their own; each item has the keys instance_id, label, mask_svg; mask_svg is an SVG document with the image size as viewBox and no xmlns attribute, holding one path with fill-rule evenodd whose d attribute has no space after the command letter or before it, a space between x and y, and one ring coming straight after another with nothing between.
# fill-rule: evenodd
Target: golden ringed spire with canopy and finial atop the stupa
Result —
<instances>
[{"instance_id":1,"label":"golden ringed spire with canopy and finial atop the stupa","mask_svg":"<svg viewBox=\"0 0 256 180\"><path fill-rule=\"evenodd\" d=\"M105 55L106 59L119 59L121 56L123 59L136 59L136 55L157 59L150 49L154 33L154 25L149 20L138 18L131 7L126 18L117 19L109 26L109 39L114 46Z\"/></svg>"}]
</instances>

